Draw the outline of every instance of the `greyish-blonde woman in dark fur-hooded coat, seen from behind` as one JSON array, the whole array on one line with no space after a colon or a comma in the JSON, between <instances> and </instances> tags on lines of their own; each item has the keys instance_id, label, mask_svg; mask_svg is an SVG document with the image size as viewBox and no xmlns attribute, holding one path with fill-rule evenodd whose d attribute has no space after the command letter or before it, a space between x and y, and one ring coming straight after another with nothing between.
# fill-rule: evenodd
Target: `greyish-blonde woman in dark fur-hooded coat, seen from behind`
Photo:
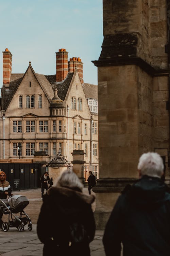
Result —
<instances>
[{"instance_id":1,"label":"greyish-blonde woman in dark fur-hooded coat, seen from behind","mask_svg":"<svg viewBox=\"0 0 170 256\"><path fill-rule=\"evenodd\" d=\"M95 219L91 209L93 195L82 193L83 184L73 172L63 172L56 186L47 191L37 222L38 238L44 243L43 256L90 256L89 243L95 236ZM87 239L70 242L70 224L81 223Z\"/></svg>"}]
</instances>

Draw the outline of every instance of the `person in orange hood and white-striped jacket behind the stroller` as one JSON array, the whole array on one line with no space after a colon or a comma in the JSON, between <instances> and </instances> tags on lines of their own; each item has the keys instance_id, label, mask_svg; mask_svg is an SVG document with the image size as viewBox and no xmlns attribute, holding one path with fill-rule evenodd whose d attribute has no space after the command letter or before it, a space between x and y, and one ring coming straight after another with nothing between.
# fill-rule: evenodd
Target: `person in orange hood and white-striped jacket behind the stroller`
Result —
<instances>
[{"instance_id":1,"label":"person in orange hood and white-striped jacket behind the stroller","mask_svg":"<svg viewBox=\"0 0 170 256\"><path fill-rule=\"evenodd\" d=\"M8 181L6 181L6 174L4 172L0 172L0 198L6 199L7 196L11 196L11 186ZM3 212L1 211L0 207L0 228L2 228L2 215Z\"/></svg>"}]
</instances>

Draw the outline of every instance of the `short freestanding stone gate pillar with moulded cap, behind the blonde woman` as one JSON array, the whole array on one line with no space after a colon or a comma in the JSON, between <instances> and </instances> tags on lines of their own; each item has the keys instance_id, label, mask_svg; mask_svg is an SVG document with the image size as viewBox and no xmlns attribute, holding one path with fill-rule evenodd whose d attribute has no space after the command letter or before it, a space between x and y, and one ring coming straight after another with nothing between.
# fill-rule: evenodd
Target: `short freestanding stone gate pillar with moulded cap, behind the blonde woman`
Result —
<instances>
[{"instance_id":1,"label":"short freestanding stone gate pillar with moulded cap, behind the blonde woman","mask_svg":"<svg viewBox=\"0 0 170 256\"><path fill-rule=\"evenodd\" d=\"M73 172L78 175L79 179L84 183L84 151L83 150L73 150L71 153L73 156L73 160L71 161L73 164Z\"/></svg>"}]
</instances>

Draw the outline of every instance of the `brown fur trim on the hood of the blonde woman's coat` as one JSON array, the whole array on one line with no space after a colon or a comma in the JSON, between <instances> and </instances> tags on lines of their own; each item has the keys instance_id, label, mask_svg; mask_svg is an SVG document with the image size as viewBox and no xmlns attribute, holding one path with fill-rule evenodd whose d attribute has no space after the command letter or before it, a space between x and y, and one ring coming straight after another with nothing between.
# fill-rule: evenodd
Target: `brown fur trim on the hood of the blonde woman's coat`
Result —
<instances>
[{"instance_id":1,"label":"brown fur trim on the hood of the blonde woman's coat","mask_svg":"<svg viewBox=\"0 0 170 256\"><path fill-rule=\"evenodd\" d=\"M75 188L76 189L76 188ZM60 194L62 196L65 196L66 198L71 199L75 198L76 200L83 201L84 203L91 204L95 201L94 195L86 195L82 193L81 191L67 188L67 187L52 187L47 191L47 195L49 196L55 196L57 194Z\"/></svg>"}]
</instances>

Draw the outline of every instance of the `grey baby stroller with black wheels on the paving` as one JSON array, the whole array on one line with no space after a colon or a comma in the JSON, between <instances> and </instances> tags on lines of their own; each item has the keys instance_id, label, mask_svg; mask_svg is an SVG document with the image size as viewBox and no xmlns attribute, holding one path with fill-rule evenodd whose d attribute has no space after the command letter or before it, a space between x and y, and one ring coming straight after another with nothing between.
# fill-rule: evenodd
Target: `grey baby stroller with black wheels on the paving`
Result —
<instances>
[{"instance_id":1,"label":"grey baby stroller with black wheels on the paving","mask_svg":"<svg viewBox=\"0 0 170 256\"><path fill-rule=\"evenodd\" d=\"M3 231L7 232L9 228L15 227L20 232L22 232L24 230L24 226L28 222L28 230L32 230L31 219L23 210L28 204L29 201L27 197L20 195L14 195L8 199L0 199L0 205L3 214L8 214L8 221L2 223ZM16 213L19 213L19 216L16 216Z\"/></svg>"}]
</instances>

